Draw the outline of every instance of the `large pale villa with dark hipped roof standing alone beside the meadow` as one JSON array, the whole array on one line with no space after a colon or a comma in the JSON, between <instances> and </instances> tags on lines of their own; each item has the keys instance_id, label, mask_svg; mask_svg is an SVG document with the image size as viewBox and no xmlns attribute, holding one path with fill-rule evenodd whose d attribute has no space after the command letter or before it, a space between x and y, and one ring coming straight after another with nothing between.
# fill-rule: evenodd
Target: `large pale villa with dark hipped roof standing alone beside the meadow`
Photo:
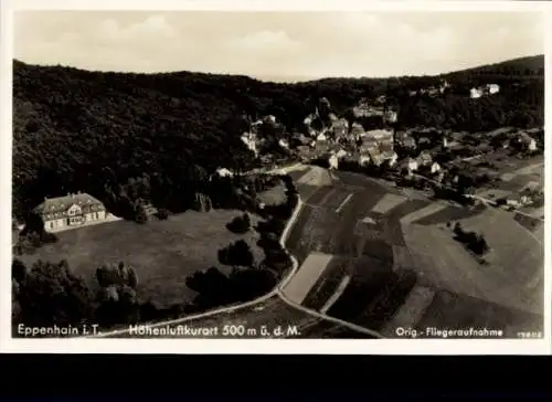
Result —
<instances>
[{"instance_id":1,"label":"large pale villa with dark hipped roof standing alone beside the meadow","mask_svg":"<svg viewBox=\"0 0 552 402\"><path fill-rule=\"evenodd\" d=\"M44 199L33 212L42 218L47 232L104 222L107 219L107 211L102 201L81 192Z\"/></svg>"}]
</instances>

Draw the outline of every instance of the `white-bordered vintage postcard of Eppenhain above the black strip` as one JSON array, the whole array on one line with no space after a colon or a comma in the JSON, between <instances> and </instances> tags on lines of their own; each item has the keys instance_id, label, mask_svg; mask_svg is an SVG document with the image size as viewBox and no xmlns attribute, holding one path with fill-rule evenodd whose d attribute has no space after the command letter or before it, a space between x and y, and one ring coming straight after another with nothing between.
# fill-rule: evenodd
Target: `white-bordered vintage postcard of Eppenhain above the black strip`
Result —
<instances>
[{"instance_id":1,"label":"white-bordered vintage postcard of Eppenhain above the black strip","mask_svg":"<svg viewBox=\"0 0 552 402\"><path fill-rule=\"evenodd\" d=\"M544 3L17 3L2 348L550 340Z\"/></svg>"}]
</instances>

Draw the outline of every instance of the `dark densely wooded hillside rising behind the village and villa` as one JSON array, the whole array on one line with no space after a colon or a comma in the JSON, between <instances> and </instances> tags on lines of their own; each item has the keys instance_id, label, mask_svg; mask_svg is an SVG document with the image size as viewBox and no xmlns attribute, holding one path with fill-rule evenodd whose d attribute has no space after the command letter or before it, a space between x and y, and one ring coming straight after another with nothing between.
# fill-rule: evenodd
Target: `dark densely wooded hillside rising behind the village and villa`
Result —
<instances>
[{"instance_id":1,"label":"dark densely wooded hillside rising behind the village and villa","mask_svg":"<svg viewBox=\"0 0 552 402\"><path fill-rule=\"evenodd\" d=\"M274 115L285 127L277 135L300 131L320 97L330 99L338 115L350 116L361 98L386 95L403 127L477 131L502 125L542 126L543 76L513 70L506 76L508 65L539 71L543 56L480 67L485 76L481 70L469 70L436 77L297 84L188 72L86 72L14 61L14 214L24 218L44 197L68 191L86 191L113 204L128 192L141 191L136 189L137 178L160 200L189 197L217 167L258 165L240 138L248 127L242 116ZM446 96L407 95L443 77L454 89ZM466 97L481 83L500 84L501 92L480 102Z\"/></svg>"}]
</instances>

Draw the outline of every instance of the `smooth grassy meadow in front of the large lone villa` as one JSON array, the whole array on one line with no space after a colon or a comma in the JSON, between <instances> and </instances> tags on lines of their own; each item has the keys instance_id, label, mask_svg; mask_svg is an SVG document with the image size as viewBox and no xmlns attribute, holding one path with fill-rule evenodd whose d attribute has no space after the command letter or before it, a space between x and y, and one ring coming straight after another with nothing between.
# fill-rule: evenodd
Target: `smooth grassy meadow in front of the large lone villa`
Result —
<instances>
[{"instance_id":1,"label":"smooth grassy meadow in front of the large lone villa","mask_svg":"<svg viewBox=\"0 0 552 402\"><path fill-rule=\"evenodd\" d=\"M76 274L91 283L95 282L94 273L99 265L123 261L137 273L140 299L151 299L161 306L191 302L195 293L185 285L188 275L211 266L230 272L230 267L217 262L219 248L244 239L255 260L263 258L254 231L240 236L225 228L237 214L238 211L188 211L167 221L151 220L144 225L118 221L82 228L59 233L57 243L45 245L21 260L29 265L39 258L65 258Z\"/></svg>"}]
</instances>

